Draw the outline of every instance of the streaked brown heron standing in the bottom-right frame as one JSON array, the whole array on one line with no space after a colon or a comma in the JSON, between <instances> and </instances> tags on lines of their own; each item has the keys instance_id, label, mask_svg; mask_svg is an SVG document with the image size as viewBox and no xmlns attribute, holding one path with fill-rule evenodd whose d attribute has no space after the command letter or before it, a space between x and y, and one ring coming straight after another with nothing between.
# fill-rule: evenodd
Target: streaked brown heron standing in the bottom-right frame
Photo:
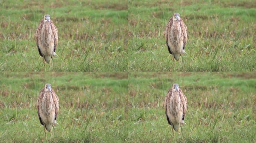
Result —
<instances>
[{"instance_id":1,"label":"streaked brown heron standing in the bottom-right frame","mask_svg":"<svg viewBox=\"0 0 256 143\"><path fill-rule=\"evenodd\" d=\"M184 119L187 111L187 98L177 83L174 83L168 90L164 107L168 124L175 131L179 131L180 125L186 124Z\"/></svg>"}]
</instances>

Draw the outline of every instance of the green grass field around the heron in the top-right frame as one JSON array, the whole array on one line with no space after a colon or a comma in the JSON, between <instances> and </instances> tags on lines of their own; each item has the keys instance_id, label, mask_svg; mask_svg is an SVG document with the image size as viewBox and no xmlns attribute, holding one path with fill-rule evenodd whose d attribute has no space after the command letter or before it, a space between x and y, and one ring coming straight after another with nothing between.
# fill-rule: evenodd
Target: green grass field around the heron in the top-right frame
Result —
<instances>
[{"instance_id":1,"label":"green grass field around the heron in the top-right frame","mask_svg":"<svg viewBox=\"0 0 256 143\"><path fill-rule=\"evenodd\" d=\"M165 42L173 13L188 27L183 61ZM128 3L129 71L255 71L255 0L132 0Z\"/></svg>"}]
</instances>

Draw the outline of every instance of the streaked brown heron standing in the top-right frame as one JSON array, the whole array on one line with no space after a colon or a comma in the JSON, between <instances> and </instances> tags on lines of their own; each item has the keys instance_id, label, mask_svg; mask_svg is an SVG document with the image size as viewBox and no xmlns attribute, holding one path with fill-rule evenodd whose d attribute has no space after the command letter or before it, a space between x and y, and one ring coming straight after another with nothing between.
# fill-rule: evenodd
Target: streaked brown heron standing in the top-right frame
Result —
<instances>
[{"instance_id":1,"label":"streaked brown heron standing in the top-right frame","mask_svg":"<svg viewBox=\"0 0 256 143\"><path fill-rule=\"evenodd\" d=\"M185 46L188 39L187 32L187 26L182 18L180 18L180 14L174 13L165 28L165 40L169 53L177 61L179 61L180 55L185 53Z\"/></svg>"}]
</instances>

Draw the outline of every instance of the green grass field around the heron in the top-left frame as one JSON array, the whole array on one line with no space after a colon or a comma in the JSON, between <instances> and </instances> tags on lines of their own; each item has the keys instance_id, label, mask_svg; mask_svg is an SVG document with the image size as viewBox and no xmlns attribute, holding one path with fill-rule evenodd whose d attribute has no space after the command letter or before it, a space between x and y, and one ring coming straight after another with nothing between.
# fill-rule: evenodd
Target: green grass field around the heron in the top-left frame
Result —
<instances>
[{"instance_id":1,"label":"green grass field around the heron in the top-left frame","mask_svg":"<svg viewBox=\"0 0 256 143\"><path fill-rule=\"evenodd\" d=\"M58 58L45 68L34 35L45 14ZM127 71L126 0L0 1L0 71Z\"/></svg>"}]
</instances>

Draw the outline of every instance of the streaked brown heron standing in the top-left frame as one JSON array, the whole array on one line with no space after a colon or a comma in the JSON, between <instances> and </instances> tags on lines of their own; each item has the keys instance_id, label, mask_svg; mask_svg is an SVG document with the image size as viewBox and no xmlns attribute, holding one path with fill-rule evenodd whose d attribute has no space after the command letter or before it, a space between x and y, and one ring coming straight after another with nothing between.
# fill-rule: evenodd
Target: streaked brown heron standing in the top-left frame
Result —
<instances>
[{"instance_id":1,"label":"streaked brown heron standing in the top-left frame","mask_svg":"<svg viewBox=\"0 0 256 143\"><path fill-rule=\"evenodd\" d=\"M52 22L50 15L44 15L36 30L36 45L43 61L49 63L58 45L58 29Z\"/></svg>"}]
</instances>

